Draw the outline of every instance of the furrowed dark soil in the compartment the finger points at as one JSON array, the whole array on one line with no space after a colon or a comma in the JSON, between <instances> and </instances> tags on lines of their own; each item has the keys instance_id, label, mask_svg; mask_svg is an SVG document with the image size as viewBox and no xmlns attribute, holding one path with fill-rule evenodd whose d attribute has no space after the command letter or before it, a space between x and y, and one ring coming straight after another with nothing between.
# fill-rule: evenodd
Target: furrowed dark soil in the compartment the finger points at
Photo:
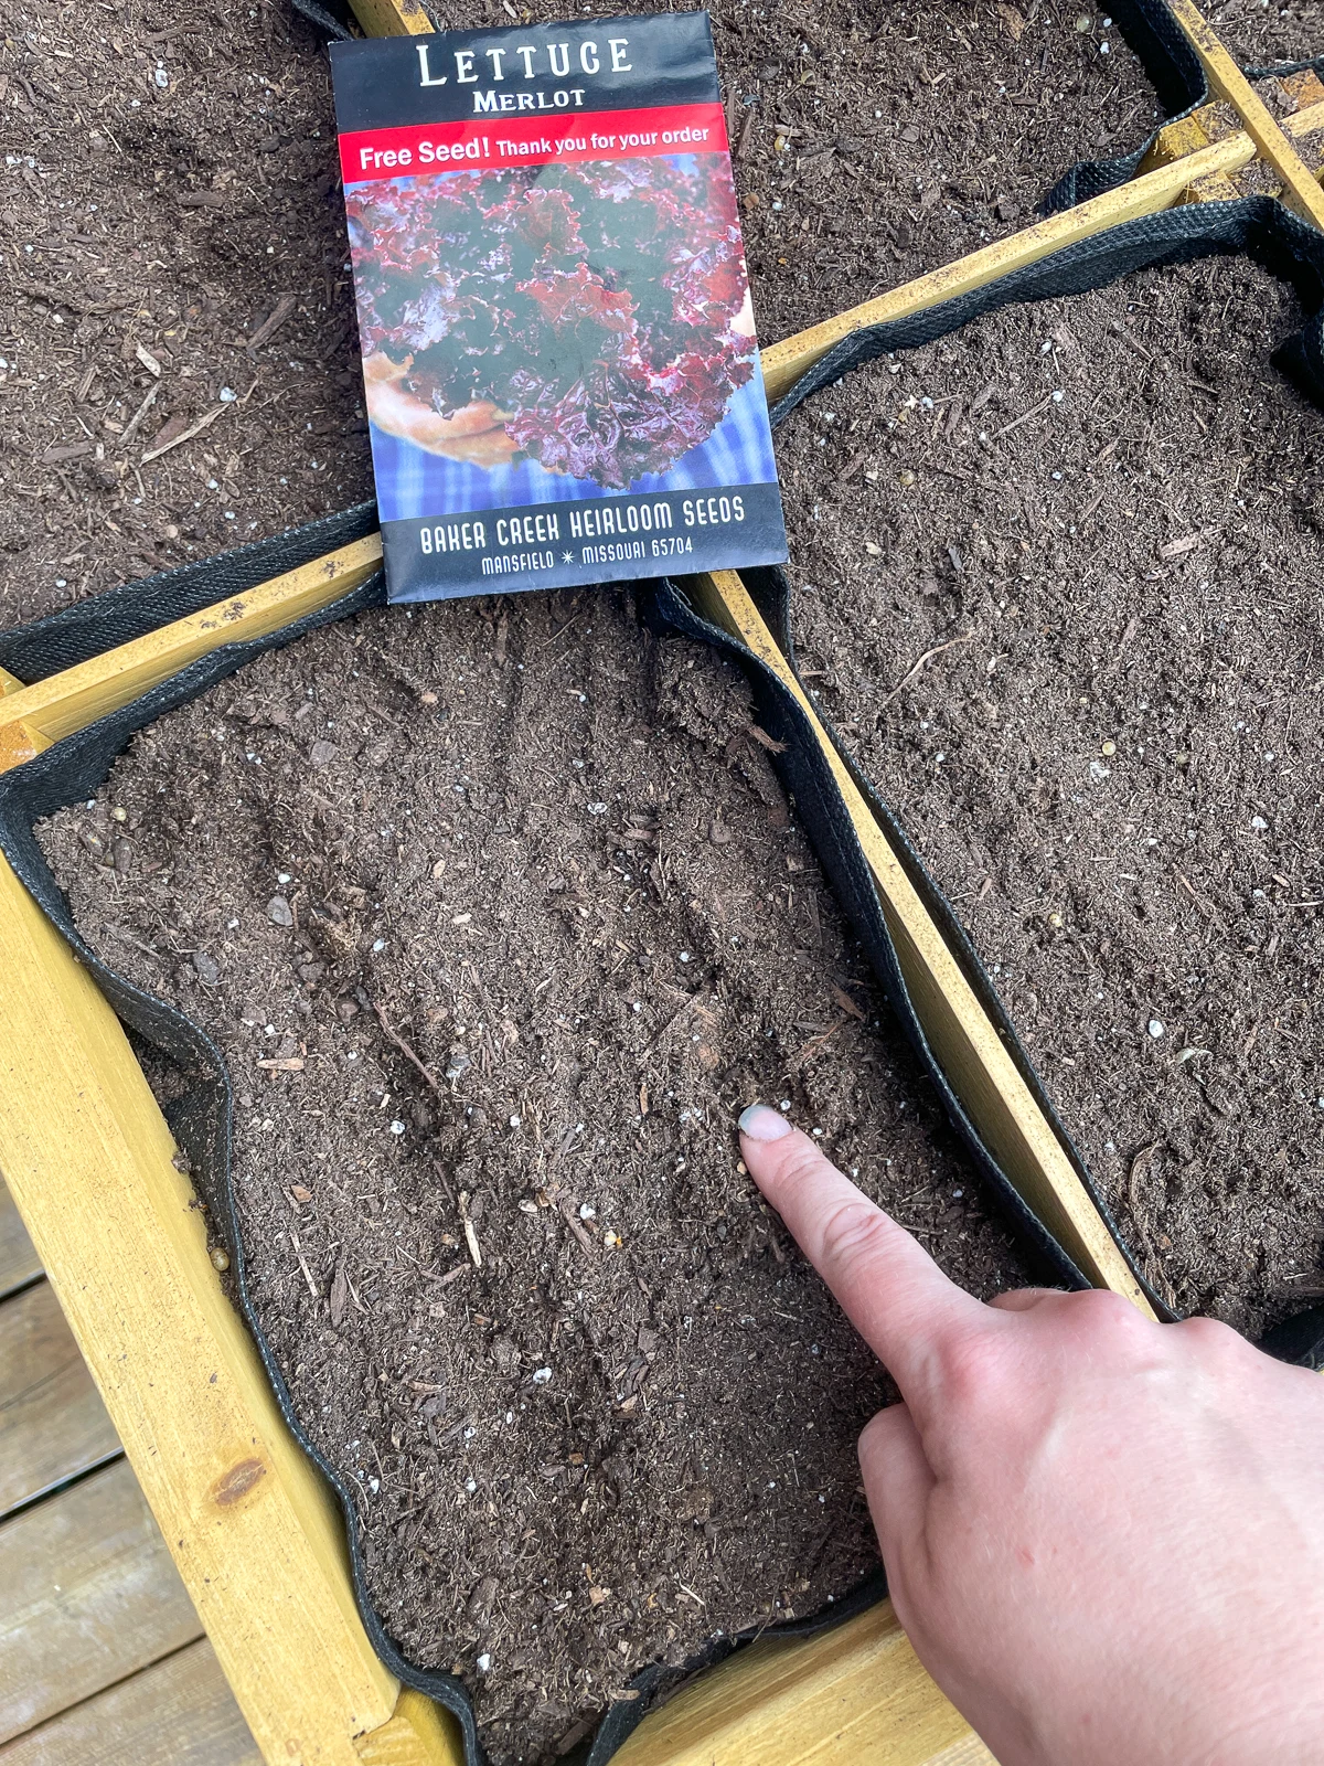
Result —
<instances>
[{"instance_id":1,"label":"furrowed dark soil in the compartment the finger points at","mask_svg":"<svg viewBox=\"0 0 1324 1766\"><path fill-rule=\"evenodd\" d=\"M378 1611L496 1761L874 1563L883 1376L738 1166L743 1104L976 1293L1024 1280L759 735L628 595L394 609L162 719L42 834L226 1054L260 1317Z\"/></svg>"}]
</instances>

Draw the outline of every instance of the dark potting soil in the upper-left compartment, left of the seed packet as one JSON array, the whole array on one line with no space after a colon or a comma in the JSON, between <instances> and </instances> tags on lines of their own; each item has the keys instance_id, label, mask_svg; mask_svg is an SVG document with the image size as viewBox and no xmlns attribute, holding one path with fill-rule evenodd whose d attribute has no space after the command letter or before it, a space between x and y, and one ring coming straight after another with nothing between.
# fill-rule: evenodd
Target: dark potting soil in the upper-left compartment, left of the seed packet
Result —
<instances>
[{"instance_id":1,"label":"dark potting soil in the upper-left compartment, left of the seed packet","mask_svg":"<svg viewBox=\"0 0 1324 1766\"><path fill-rule=\"evenodd\" d=\"M372 494L314 32L284 0L7 30L0 627Z\"/></svg>"}]
</instances>

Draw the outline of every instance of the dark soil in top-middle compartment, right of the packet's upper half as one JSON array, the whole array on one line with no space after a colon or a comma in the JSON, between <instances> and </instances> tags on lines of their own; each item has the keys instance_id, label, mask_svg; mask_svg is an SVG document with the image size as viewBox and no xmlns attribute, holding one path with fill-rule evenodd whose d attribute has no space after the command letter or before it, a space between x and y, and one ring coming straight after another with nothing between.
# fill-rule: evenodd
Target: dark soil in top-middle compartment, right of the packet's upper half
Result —
<instances>
[{"instance_id":1,"label":"dark soil in top-middle compartment, right of the packet's upper half","mask_svg":"<svg viewBox=\"0 0 1324 1766\"><path fill-rule=\"evenodd\" d=\"M510 25L501 0L427 11L450 30ZM708 12L764 344L1031 226L1075 161L1128 152L1160 120L1107 7L713 0ZM565 14L565 0L521 12Z\"/></svg>"}]
</instances>

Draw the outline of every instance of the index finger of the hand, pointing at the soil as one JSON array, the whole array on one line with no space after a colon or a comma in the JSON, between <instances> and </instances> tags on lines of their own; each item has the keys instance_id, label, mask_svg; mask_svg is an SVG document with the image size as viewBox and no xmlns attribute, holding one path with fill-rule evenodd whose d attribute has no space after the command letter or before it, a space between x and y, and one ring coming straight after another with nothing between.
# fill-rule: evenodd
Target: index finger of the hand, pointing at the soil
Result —
<instances>
[{"instance_id":1,"label":"index finger of the hand, pointing at the soil","mask_svg":"<svg viewBox=\"0 0 1324 1766\"><path fill-rule=\"evenodd\" d=\"M985 1307L777 1111L752 1104L743 1113L740 1151L902 1397L923 1404L944 1347L982 1324Z\"/></svg>"}]
</instances>

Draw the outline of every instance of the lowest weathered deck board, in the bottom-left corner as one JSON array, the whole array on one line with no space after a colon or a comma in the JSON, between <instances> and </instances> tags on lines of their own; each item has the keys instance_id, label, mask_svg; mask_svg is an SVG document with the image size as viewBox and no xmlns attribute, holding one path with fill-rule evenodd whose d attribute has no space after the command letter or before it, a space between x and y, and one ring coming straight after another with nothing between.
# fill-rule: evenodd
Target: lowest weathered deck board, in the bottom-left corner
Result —
<instances>
[{"instance_id":1,"label":"lowest weathered deck board, in the bottom-left corner","mask_svg":"<svg viewBox=\"0 0 1324 1766\"><path fill-rule=\"evenodd\" d=\"M201 1639L0 1747L0 1766L263 1762L212 1646Z\"/></svg>"}]
</instances>

